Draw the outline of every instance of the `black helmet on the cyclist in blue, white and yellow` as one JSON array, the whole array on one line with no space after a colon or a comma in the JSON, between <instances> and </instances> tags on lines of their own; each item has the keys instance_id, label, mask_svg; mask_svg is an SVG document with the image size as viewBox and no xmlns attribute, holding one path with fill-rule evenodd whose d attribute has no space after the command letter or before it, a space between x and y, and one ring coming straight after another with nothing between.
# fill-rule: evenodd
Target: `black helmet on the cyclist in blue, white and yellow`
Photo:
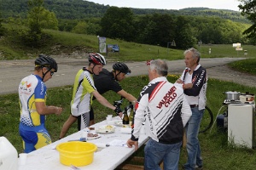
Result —
<instances>
[{"instance_id":1,"label":"black helmet on the cyclist in blue, white and yellow","mask_svg":"<svg viewBox=\"0 0 256 170\"><path fill-rule=\"evenodd\" d=\"M41 67L49 67L49 70L55 69L55 72L58 71L58 65L55 59L45 54L39 54L38 59L35 60L35 65Z\"/></svg>"}]
</instances>

